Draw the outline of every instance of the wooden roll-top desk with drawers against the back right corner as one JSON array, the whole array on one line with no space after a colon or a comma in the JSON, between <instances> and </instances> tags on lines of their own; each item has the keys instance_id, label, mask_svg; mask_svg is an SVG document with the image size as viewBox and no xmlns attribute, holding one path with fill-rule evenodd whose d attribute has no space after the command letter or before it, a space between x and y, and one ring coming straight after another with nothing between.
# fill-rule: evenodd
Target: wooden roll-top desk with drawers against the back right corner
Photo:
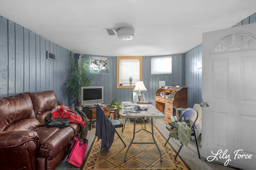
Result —
<instances>
[{"instance_id":1,"label":"wooden roll-top desk with drawers against the back right corner","mask_svg":"<svg viewBox=\"0 0 256 170\"><path fill-rule=\"evenodd\" d=\"M173 94L173 98L163 98L160 96L160 92L166 92L166 95ZM188 88L187 87L172 87L162 86L162 88L156 91L156 109L162 111L165 114L164 123L168 124L171 121L171 115L173 113L173 107L187 108L188 103Z\"/></svg>"}]
</instances>

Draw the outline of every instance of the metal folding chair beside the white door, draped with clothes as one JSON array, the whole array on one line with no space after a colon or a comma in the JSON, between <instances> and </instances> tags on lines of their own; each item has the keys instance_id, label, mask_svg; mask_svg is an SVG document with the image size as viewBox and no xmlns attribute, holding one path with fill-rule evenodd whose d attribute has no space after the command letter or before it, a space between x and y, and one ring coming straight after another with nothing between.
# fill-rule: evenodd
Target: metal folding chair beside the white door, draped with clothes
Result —
<instances>
[{"instance_id":1,"label":"metal folding chair beside the white door, draped with clothes","mask_svg":"<svg viewBox=\"0 0 256 170\"><path fill-rule=\"evenodd\" d=\"M195 141L196 141L196 135L195 135L196 132L195 132L195 129L194 129L194 124L195 124L195 122L196 122L196 120L197 120L198 112L197 112L195 109L192 109L192 108L189 108L189 107L188 107L188 108L186 108L186 109L182 112L182 114L180 115L180 118L178 119L178 121L181 121L181 117L186 117L186 118L188 118L188 119L192 122L192 124L190 124L190 125L191 125L190 128L191 128L191 130L194 132ZM168 139L167 139L166 143L164 144L164 146L166 146L166 144L168 143L169 139L170 139L170 136L168 137ZM176 160L176 158L177 158L177 156L178 156L180 150L182 149L182 147L183 147L183 144L181 144L180 149L178 150L176 156L174 157L175 160ZM196 147L197 147L199 159L201 159L200 153L199 153L199 149L198 149L197 141L196 141Z\"/></svg>"}]
</instances>

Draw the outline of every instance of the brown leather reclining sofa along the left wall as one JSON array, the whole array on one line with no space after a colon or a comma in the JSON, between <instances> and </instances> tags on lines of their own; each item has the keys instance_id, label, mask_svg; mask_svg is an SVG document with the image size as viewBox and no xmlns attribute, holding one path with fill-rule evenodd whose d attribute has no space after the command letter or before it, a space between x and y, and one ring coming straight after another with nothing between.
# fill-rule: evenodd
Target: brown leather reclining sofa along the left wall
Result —
<instances>
[{"instance_id":1,"label":"brown leather reclining sofa along the left wall","mask_svg":"<svg viewBox=\"0 0 256 170\"><path fill-rule=\"evenodd\" d=\"M57 105L54 91L0 98L0 169L54 170L62 162L81 128L42 126Z\"/></svg>"}]
</instances>

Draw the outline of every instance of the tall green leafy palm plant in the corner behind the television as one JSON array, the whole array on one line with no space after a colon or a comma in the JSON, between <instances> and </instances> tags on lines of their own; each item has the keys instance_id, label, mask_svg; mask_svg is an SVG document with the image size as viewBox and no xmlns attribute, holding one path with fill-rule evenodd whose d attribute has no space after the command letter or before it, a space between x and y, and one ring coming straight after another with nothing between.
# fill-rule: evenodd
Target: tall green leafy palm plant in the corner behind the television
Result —
<instances>
[{"instance_id":1,"label":"tall green leafy palm plant in the corner behind the television","mask_svg":"<svg viewBox=\"0 0 256 170\"><path fill-rule=\"evenodd\" d=\"M65 88L72 98L71 105L74 106L81 106L81 87L91 86L94 81L94 73L90 72L90 59L83 59L82 56L83 54L79 56L76 65L70 52L72 72L69 74Z\"/></svg>"}]
</instances>

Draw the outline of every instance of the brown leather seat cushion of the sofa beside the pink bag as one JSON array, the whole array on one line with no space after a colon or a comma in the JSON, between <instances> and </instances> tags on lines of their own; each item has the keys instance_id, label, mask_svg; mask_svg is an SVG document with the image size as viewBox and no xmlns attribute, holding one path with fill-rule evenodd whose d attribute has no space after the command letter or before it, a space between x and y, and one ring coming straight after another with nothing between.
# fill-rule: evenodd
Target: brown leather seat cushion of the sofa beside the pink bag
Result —
<instances>
[{"instance_id":1,"label":"brown leather seat cushion of the sofa beside the pink bag","mask_svg":"<svg viewBox=\"0 0 256 170\"><path fill-rule=\"evenodd\" d=\"M39 137L40 149L39 157L51 160L65 149L74 137L74 131L71 127L38 127L34 129Z\"/></svg>"}]
</instances>

